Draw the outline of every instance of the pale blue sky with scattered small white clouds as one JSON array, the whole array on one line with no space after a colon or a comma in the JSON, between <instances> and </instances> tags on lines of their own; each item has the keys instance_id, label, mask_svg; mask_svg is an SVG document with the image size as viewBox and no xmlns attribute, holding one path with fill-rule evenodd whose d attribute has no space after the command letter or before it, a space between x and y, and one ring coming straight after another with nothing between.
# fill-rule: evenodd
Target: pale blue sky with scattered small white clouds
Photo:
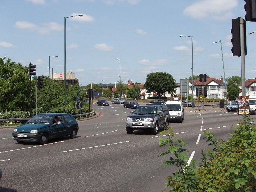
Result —
<instances>
[{"instance_id":1,"label":"pale blue sky with scattered small white clouds","mask_svg":"<svg viewBox=\"0 0 256 192\"><path fill-rule=\"evenodd\" d=\"M243 0L1 0L0 57L28 66L36 76L66 72L79 84L145 83L151 72L176 82L207 74L241 76L231 52L232 19L246 14ZM75 16L82 14L83 16ZM74 16L71 18L67 18ZM256 30L246 22L246 33ZM183 35L180 37L179 35ZM224 70L222 52L224 57ZM255 78L256 33L247 35L245 76ZM213 44L213 42L217 42ZM58 57L55 57L58 56ZM117 60L119 58L120 60Z\"/></svg>"}]
</instances>

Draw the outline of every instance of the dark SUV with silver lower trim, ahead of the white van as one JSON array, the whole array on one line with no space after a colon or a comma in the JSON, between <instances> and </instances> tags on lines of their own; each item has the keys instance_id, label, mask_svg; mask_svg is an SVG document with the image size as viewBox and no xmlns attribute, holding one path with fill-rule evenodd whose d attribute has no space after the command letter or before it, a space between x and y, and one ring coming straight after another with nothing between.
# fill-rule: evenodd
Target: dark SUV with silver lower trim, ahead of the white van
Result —
<instances>
[{"instance_id":1,"label":"dark SUV with silver lower trim, ahead of the white van","mask_svg":"<svg viewBox=\"0 0 256 192\"><path fill-rule=\"evenodd\" d=\"M165 104L146 104L138 106L126 118L126 132L132 134L134 130L150 129L157 134L159 127L169 125L169 111Z\"/></svg>"}]
</instances>

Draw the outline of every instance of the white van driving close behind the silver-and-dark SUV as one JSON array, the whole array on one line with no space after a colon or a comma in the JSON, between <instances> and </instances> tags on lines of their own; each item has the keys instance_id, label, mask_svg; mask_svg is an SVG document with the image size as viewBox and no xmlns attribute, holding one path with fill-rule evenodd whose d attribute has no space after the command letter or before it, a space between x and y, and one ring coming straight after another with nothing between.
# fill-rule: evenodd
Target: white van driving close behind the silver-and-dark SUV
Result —
<instances>
[{"instance_id":1,"label":"white van driving close behind the silver-and-dark SUV","mask_svg":"<svg viewBox=\"0 0 256 192\"><path fill-rule=\"evenodd\" d=\"M178 121L182 123L184 120L184 108L180 100L166 101L166 106L169 110L169 122Z\"/></svg>"}]
</instances>

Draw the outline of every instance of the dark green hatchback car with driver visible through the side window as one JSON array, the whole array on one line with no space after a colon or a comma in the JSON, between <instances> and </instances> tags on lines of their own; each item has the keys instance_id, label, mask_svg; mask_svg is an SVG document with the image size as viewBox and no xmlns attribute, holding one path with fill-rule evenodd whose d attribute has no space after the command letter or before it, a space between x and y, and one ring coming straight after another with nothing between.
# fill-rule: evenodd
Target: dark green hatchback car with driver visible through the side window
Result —
<instances>
[{"instance_id":1,"label":"dark green hatchback car with driver visible through the side window","mask_svg":"<svg viewBox=\"0 0 256 192\"><path fill-rule=\"evenodd\" d=\"M26 124L22 124L12 132L13 139L21 142L39 142L46 144L48 140L63 136L76 138L78 123L71 114L44 113L38 114Z\"/></svg>"}]
</instances>

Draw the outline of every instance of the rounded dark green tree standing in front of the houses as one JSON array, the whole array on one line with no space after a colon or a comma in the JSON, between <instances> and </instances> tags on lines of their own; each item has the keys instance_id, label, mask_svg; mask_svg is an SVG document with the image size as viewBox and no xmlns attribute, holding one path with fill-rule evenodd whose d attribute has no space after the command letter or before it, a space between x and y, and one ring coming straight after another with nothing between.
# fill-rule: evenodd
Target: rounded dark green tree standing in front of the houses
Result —
<instances>
[{"instance_id":1,"label":"rounded dark green tree standing in front of the houses","mask_svg":"<svg viewBox=\"0 0 256 192\"><path fill-rule=\"evenodd\" d=\"M174 78L166 72L153 72L147 75L144 88L148 92L155 92L158 98L164 93L175 93L176 83Z\"/></svg>"}]
</instances>

